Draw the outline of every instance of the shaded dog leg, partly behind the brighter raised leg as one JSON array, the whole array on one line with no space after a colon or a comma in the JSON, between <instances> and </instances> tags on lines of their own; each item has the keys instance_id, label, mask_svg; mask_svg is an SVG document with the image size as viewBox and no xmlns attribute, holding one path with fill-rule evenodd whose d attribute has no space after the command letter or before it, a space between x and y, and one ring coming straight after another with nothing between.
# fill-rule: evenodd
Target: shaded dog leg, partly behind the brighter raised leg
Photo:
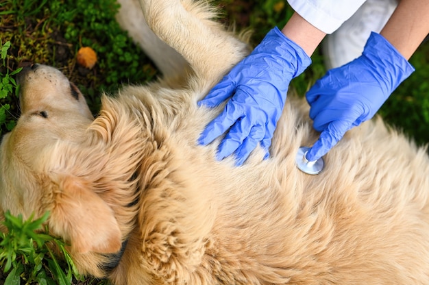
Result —
<instances>
[{"instance_id":1,"label":"shaded dog leg, partly behind the brighter raised leg","mask_svg":"<svg viewBox=\"0 0 429 285\"><path fill-rule=\"evenodd\" d=\"M186 60L152 32L143 17L138 0L118 0L118 3L121 4L117 14L119 25L149 55L161 73L166 77L183 73L188 65Z\"/></svg>"}]
</instances>

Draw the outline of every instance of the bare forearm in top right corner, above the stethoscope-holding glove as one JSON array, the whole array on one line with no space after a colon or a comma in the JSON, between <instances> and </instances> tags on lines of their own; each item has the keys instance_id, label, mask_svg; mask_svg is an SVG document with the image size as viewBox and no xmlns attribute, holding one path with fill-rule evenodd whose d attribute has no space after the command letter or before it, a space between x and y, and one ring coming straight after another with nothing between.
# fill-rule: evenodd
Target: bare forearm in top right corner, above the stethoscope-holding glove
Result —
<instances>
[{"instance_id":1,"label":"bare forearm in top right corner, above the stethoscope-holding glove","mask_svg":"<svg viewBox=\"0 0 429 285\"><path fill-rule=\"evenodd\" d=\"M407 60L429 34L429 0L402 0L380 32Z\"/></svg>"}]
</instances>

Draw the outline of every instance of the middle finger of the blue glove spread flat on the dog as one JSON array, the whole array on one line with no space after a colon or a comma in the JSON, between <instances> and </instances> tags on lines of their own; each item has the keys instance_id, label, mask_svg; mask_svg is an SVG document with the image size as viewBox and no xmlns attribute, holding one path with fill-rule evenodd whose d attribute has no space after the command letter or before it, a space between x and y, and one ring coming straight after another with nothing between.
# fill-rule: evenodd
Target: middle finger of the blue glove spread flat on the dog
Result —
<instances>
[{"instance_id":1,"label":"middle finger of the blue glove spread flat on the dog","mask_svg":"<svg viewBox=\"0 0 429 285\"><path fill-rule=\"evenodd\" d=\"M243 117L236 121L219 145L216 155L217 160L223 160L223 158L230 156L241 147L245 139L252 132L252 127L252 122L249 121L248 117ZM254 132L252 134L254 135Z\"/></svg>"}]
</instances>

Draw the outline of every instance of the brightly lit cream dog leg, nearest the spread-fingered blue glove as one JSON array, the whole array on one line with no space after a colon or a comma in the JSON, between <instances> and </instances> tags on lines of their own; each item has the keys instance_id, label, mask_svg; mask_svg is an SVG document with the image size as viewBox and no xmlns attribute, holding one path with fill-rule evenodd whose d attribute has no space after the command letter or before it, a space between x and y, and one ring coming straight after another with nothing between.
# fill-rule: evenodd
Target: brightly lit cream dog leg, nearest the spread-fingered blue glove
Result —
<instances>
[{"instance_id":1,"label":"brightly lit cream dog leg, nearest the spread-fingered blue glove","mask_svg":"<svg viewBox=\"0 0 429 285\"><path fill-rule=\"evenodd\" d=\"M218 82L249 51L244 42L212 21L215 13L206 1L140 0L140 3L149 27L184 57L204 87Z\"/></svg>"}]
</instances>

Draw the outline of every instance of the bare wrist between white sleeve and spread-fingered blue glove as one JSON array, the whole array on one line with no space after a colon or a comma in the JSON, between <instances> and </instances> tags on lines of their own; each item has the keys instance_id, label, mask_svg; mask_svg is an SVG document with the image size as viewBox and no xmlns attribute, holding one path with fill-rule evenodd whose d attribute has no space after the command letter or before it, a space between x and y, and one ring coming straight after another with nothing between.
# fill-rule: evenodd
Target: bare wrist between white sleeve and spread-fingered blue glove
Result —
<instances>
[{"instance_id":1,"label":"bare wrist between white sleeve and spread-fingered blue glove","mask_svg":"<svg viewBox=\"0 0 429 285\"><path fill-rule=\"evenodd\" d=\"M308 23L296 12L293 13L288 23L283 27L282 33L304 49L308 56L312 55L321 40L326 36L324 32Z\"/></svg>"}]
</instances>

